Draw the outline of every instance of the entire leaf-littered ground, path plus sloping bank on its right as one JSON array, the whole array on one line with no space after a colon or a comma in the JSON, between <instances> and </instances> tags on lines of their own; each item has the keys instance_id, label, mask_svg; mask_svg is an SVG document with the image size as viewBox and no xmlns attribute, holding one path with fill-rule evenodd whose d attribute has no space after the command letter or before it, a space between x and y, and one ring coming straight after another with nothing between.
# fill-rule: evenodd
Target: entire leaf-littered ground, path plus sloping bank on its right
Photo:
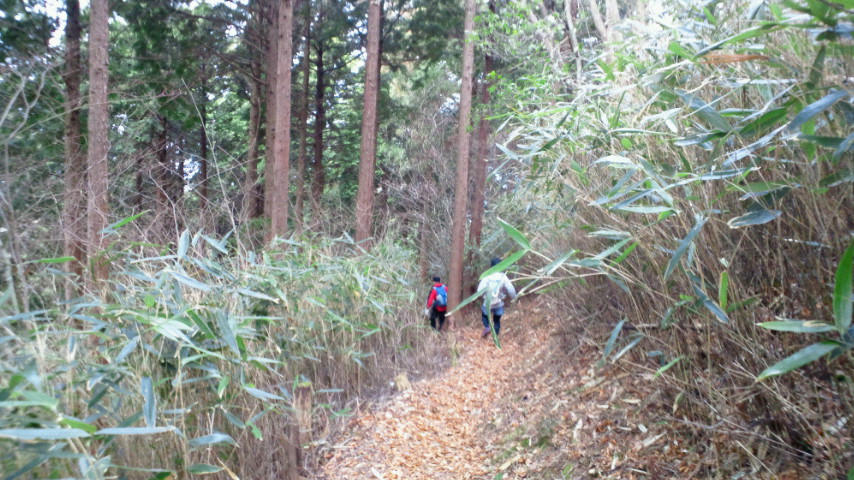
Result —
<instances>
[{"instance_id":1,"label":"entire leaf-littered ground, path plus sloping bank on its right","mask_svg":"<svg viewBox=\"0 0 854 480\"><path fill-rule=\"evenodd\" d=\"M670 410L652 375L597 368L601 347L567 338L550 310L508 309L500 349L473 322L437 334L451 368L363 406L317 478L706 478L708 462L651 415Z\"/></svg>"}]
</instances>

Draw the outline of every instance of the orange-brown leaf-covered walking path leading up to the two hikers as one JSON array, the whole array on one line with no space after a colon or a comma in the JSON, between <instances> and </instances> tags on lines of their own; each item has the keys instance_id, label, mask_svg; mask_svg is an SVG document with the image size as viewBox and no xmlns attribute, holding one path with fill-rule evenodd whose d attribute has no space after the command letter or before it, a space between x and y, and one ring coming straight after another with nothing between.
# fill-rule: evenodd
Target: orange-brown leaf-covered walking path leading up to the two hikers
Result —
<instances>
[{"instance_id":1,"label":"orange-brown leaf-covered walking path leading up to the two hikers","mask_svg":"<svg viewBox=\"0 0 854 480\"><path fill-rule=\"evenodd\" d=\"M452 355L459 355L454 365L354 419L350 435L324 465L324 478L486 475L493 452L484 443L482 426L494 420L496 401L513 390L512 372L530 358L530 346L544 345L546 335L543 330L523 332L518 320L502 332L501 349L476 329L445 334Z\"/></svg>"}]
</instances>

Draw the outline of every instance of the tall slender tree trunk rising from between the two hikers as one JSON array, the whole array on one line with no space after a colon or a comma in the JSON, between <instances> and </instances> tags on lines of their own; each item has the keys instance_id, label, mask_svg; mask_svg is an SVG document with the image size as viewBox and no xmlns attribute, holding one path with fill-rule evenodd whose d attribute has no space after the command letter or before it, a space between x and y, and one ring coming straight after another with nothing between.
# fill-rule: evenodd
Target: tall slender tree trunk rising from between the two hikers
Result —
<instances>
[{"instance_id":1,"label":"tall slender tree trunk rising from between the two hikers","mask_svg":"<svg viewBox=\"0 0 854 480\"><path fill-rule=\"evenodd\" d=\"M466 0L465 46L463 47L462 91L460 92L459 125L457 126L457 181L454 189L454 224L451 233L451 266L448 308L460 304L463 288L463 251L465 249L466 213L468 210L469 123L471 116L472 72L474 70L475 1Z\"/></svg>"}]
</instances>

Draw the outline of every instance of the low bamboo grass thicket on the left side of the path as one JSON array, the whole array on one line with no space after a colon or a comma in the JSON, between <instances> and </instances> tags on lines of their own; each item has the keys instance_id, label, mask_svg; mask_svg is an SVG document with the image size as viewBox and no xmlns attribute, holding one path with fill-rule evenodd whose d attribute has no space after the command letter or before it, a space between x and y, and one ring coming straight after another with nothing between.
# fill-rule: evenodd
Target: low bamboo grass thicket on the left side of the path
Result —
<instances>
[{"instance_id":1,"label":"low bamboo grass thicket on the left side of the path","mask_svg":"<svg viewBox=\"0 0 854 480\"><path fill-rule=\"evenodd\" d=\"M339 239L229 257L223 243L184 232L174 255L113 252L106 301L0 318L4 471L177 472L171 456L188 451L188 472L215 473L244 431L263 434L259 415L292 415L293 382L309 380L330 409L314 414L331 415L384 380L375 354L405 343L416 348L399 361L418 355L426 329L402 314L417 310L410 252L356 256ZM137 449L154 453L123 453Z\"/></svg>"}]
</instances>

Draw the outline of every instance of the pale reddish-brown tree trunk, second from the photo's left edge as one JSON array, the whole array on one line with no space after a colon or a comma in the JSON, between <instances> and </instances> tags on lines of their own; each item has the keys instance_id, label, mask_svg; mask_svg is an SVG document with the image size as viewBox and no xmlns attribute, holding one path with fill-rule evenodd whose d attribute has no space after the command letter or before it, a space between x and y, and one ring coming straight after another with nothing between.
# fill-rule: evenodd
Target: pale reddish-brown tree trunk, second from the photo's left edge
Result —
<instances>
[{"instance_id":1,"label":"pale reddish-brown tree trunk, second from the photo's left edge","mask_svg":"<svg viewBox=\"0 0 854 480\"><path fill-rule=\"evenodd\" d=\"M87 156L89 198L87 202L87 256L92 262L89 286L106 280L109 265L102 252L106 247L101 231L107 226L109 199L107 163L110 139L110 105L107 98L110 7L108 0L92 0L89 16L89 152Z\"/></svg>"}]
</instances>

